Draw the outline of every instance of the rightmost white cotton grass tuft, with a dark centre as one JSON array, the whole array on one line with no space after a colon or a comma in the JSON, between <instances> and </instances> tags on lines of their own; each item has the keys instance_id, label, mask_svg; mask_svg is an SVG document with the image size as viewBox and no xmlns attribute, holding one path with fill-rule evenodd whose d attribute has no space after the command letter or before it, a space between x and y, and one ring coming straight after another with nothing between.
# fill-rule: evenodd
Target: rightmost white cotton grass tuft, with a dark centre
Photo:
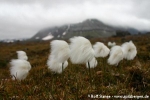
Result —
<instances>
[{"instance_id":1,"label":"rightmost white cotton grass tuft, with a dark centre","mask_svg":"<svg viewBox=\"0 0 150 100\"><path fill-rule=\"evenodd\" d=\"M121 47L124 53L124 58L127 60L133 60L137 54L136 46L133 42L125 42Z\"/></svg>"}]
</instances>

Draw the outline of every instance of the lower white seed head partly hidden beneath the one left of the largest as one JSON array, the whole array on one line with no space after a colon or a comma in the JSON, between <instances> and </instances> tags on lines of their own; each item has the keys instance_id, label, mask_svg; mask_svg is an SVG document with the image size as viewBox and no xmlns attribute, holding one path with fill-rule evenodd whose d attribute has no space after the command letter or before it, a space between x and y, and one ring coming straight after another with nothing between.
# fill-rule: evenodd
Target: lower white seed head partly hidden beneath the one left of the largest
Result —
<instances>
[{"instance_id":1,"label":"lower white seed head partly hidden beneath the one left of the largest","mask_svg":"<svg viewBox=\"0 0 150 100\"><path fill-rule=\"evenodd\" d=\"M53 57L50 57L50 59L47 62L48 68L56 73L62 73L62 64L63 63L59 63L57 62L55 59L53 59ZM64 61L63 64L63 70L68 66L68 62Z\"/></svg>"}]
</instances>

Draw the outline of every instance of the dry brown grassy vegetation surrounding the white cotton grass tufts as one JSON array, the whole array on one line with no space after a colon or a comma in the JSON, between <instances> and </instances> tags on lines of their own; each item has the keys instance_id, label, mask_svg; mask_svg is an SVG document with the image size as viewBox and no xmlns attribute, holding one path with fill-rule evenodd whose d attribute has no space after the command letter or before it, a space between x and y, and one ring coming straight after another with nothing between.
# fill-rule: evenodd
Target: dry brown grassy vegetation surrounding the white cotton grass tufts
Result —
<instances>
[{"instance_id":1,"label":"dry brown grassy vegetation surrounding the white cotton grass tufts","mask_svg":"<svg viewBox=\"0 0 150 100\"><path fill-rule=\"evenodd\" d=\"M91 69L91 84L85 65L69 61L62 74L47 69L49 41L0 43L0 100L88 100L89 94L150 96L150 36L97 38L91 39L91 43L100 41L107 45L108 41L115 41L120 45L129 40L137 47L136 58L123 60L117 67L108 65L107 58L98 58L98 66ZM17 58L17 50L27 53L32 66L23 81L12 81L9 72L9 62Z\"/></svg>"}]
</instances>

